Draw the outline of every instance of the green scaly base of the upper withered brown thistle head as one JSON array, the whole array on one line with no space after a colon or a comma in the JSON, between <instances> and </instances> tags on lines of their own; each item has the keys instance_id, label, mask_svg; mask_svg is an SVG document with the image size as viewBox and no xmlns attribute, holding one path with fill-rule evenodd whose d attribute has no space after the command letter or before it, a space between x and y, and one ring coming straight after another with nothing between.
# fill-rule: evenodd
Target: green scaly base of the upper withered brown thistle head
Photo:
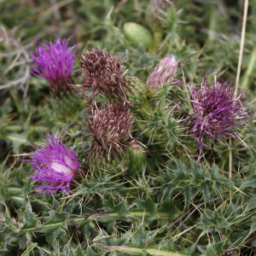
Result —
<instances>
[{"instance_id":1,"label":"green scaly base of the upper withered brown thistle head","mask_svg":"<svg viewBox=\"0 0 256 256\"><path fill-rule=\"evenodd\" d=\"M147 84L143 84L141 79L137 79L137 77L126 76L127 84L131 84L131 86L127 86L128 89L125 89L125 96L129 102L133 102L134 104L129 106L132 110L136 111L138 108L141 108L143 103L147 99Z\"/></svg>"}]
</instances>

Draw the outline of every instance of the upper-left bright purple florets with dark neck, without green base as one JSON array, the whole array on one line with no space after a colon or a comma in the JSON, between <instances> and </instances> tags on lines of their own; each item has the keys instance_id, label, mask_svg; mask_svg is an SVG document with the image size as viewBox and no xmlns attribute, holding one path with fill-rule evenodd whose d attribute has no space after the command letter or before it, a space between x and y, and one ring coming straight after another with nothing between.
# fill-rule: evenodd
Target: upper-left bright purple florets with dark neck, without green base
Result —
<instances>
[{"instance_id":1,"label":"upper-left bright purple florets with dark neck, without green base","mask_svg":"<svg viewBox=\"0 0 256 256\"><path fill-rule=\"evenodd\" d=\"M76 32L75 32L76 33ZM51 42L51 38L46 43L40 44L39 38L37 41L36 55L30 50L32 61L35 66L32 66L34 75L47 79L50 84L50 90L55 95L59 96L61 91L70 90L67 83L73 84L71 71L77 46L74 44L72 48L68 47L70 38L59 38L55 32L56 43Z\"/></svg>"}]
</instances>

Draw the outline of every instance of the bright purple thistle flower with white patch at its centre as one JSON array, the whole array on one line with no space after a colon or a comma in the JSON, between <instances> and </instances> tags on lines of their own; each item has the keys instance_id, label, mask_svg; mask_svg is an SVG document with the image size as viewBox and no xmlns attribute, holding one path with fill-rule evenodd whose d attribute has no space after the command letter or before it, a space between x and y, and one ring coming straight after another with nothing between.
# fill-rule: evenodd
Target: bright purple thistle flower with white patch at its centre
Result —
<instances>
[{"instance_id":1,"label":"bright purple thistle flower with white patch at its centre","mask_svg":"<svg viewBox=\"0 0 256 256\"><path fill-rule=\"evenodd\" d=\"M69 193L70 186L81 179L80 172L84 170L84 166L79 163L79 155L74 153L70 146L67 148L59 137L55 138L46 132L50 140L44 137L46 144L38 144L41 148L32 143L37 151L33 152L29 160L26 160L26 157L20 160L29 161L35 171L29 177L38 181L34 188L38 190L37 195L43 192L54 194L57 190L66 190L66 193ZM39 183L49 184L38 187Z\"/></svg>"}]
</instances>

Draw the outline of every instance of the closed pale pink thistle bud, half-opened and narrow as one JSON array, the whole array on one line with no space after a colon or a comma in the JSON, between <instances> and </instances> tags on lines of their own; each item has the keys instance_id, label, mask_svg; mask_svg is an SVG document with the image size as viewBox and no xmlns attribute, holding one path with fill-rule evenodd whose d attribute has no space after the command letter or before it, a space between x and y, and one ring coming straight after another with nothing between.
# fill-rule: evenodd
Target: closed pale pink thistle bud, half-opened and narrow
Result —
<instances>
[{"instance_id":1,"label":"closed pale pink thistle bud, half-opened and narrow","mask_svg":"<svg viewBox=\"0 0 256 256\"><path fill-rule=\"evenodd\" d=\"M154 68L147 80L148 90L154 95L162 84L170 84L177 71L177 61L173 55L164 57Z\"/></svg>"}]
</instances>

